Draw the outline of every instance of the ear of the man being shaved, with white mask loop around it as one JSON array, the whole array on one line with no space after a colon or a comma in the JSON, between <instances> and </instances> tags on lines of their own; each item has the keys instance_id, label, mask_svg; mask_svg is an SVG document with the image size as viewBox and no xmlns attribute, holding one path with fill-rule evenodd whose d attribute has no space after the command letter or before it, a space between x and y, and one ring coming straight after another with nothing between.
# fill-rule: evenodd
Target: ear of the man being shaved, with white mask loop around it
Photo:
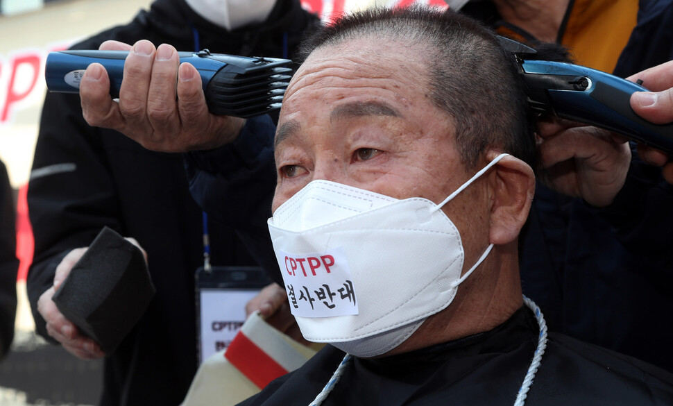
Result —
<instances>
[{"instance_id":1,"label":"ear of the man being shaved, with white mask loop around it","mask_svg":"<svg viewBox=\"0 0 673 406\"><path fill-rule=\"evenodd\" d=\"M495 156L493 157L495 158ZM489 239L504 245L518 238L535 193L535 175L526 162L511 155L495 164L489 177L493 190Z\"/></svg>"}]
</instances>

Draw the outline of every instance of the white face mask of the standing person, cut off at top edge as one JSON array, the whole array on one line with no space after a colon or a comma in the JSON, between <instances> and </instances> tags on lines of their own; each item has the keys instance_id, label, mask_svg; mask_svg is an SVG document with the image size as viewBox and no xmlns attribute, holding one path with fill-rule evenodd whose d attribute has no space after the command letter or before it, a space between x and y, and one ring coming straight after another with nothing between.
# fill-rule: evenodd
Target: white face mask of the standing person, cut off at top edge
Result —
<instances>
[{"instance_id":1,"label":"white face mask of the standing person, cut off at top edge","mask_svg":"<svg viewBox=\"0 0 673 406\"><path fill-rule=\"evenodd\" d=\"M233 31L253 23L263 23L276 0L185 0L198 15L216 26Z\"/></svg>"}]
</instances>

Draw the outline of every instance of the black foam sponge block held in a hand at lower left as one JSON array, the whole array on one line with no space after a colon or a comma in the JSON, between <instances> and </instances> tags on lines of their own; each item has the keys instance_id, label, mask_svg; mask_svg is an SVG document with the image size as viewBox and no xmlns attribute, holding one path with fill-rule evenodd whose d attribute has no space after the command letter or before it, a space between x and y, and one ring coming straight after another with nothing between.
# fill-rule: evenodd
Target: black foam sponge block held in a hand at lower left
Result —
<instances>
[{"instance_id":1,"label":"black foam sponge block held in a hand at lower left","mask_svg":"<svg viewBox=\"0 0 673 406\"><path fill-rule=\"evenodd\" d=\"M105 227L62 282L53 301L110 355L155 293L142 251Z\"/></svg>"}]
</instances>

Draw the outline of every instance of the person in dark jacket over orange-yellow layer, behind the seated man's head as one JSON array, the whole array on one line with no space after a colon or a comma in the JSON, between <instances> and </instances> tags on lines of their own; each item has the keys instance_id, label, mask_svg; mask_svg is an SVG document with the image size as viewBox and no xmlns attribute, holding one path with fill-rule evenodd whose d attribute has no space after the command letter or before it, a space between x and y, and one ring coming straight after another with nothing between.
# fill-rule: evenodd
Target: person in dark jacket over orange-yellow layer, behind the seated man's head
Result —
<instances>
[{"instance_id":1,"label":"person in dark jacket over orange-yellow layer, behind the seated man's head","mask_svg":"<svg viewBox=\"0 0 673 406\"><path fill-rule=\"evenodd\" d=\"M658 78L638 72L673 60L670 0L484 0L468 1L461 12L513 40L562 44L575 63L653 90L661 90ZM538 183L522 232L525 294L552 331L673 371L673 313L656 311L673 308L665 288L673 284L673 164L662 171L667 156L646 151L643 159L635 143L628 149L617 139L611 148L624 151L626 182L598 201L586 192L606 185L580 191L581 178L566 174L595 162L617 174L592 147L601 133L544 120L538 135Z\"/></svg>"}]
</instances>

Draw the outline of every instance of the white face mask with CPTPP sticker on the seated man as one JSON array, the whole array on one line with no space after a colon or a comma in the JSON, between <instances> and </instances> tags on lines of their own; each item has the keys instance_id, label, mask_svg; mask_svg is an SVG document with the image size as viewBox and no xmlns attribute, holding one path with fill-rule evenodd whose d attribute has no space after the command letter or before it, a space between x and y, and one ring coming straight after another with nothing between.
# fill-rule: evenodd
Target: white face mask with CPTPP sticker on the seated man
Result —
<instances>
[{"instance_id":1,"label":"white face mask with CPTPP sticker on the seated man","mask_svg":"<svg viewBox=\"0 0 673 406\"><path fill-rule=\"evenodd\" d=\"M314 180L273 213L269 232L304 337L358 357L387 353L445 309L461 278L458 229L439 205Z\"/></svg>"}]
</instances>

